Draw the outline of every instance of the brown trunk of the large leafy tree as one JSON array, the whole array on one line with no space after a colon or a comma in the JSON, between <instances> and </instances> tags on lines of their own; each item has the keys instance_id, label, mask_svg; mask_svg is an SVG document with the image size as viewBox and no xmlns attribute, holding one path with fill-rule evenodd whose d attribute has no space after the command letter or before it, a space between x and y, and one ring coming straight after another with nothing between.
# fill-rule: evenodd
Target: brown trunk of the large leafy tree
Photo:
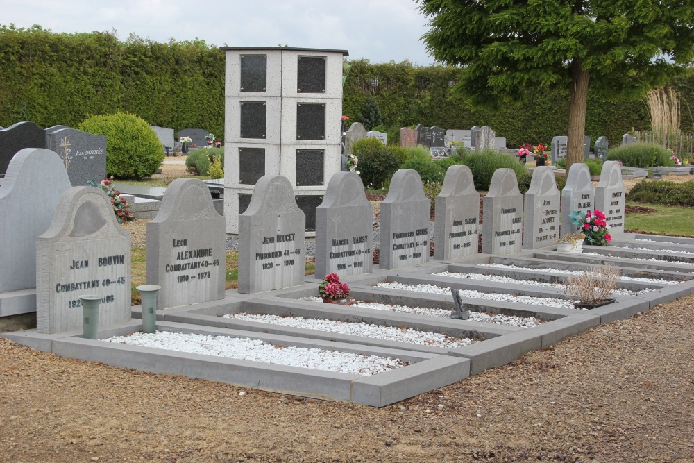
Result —
<instances>
[{"instance_id":1,"label":"brown trunk of the large leafy tree","mask_svg":"<svg viewBox=\"0 0 694 463\"><path fill-rule=\"evenodd\" d=\"M584 162L583 140L586 135L586 106L588 103L589 73L581 67L581 60L571 63L573 85L571 106L568 113L568 146L566 146L566 171L574 162Z\"/></svg>"}]
</instances>

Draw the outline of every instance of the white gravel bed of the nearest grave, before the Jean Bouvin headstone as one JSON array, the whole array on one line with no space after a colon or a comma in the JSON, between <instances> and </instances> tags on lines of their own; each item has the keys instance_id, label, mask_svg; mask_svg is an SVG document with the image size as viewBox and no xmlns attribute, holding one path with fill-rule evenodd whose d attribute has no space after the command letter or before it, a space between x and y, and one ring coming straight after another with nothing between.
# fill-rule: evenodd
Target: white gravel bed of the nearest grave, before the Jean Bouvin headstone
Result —
<instances>
[{"instance_id":1,"label":"white gravel bed of the nearest grave, before the Jean Bouvin headstone","mask_svg":"<svg viewBox=\"0 0 694 463\"><path fill-rule=\"evenodd\" d=\"M229 336L157 331L152 334L135 332L129 336L114 336L103 340L130 346L155 347L167 351L253 360L287 367L303 367L361 376L371 376L407 366L406 362L398 359L376 355L328 351L319 348L273 346L260 339Z\"/></svg>"}]
</instances>

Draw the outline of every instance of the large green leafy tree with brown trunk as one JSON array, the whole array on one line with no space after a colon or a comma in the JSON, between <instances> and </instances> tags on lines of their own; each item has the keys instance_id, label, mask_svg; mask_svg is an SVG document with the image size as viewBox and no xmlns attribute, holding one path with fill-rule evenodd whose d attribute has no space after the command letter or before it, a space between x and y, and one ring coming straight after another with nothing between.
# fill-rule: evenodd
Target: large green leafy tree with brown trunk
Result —
<instances>
[{"instance_id":1,"label":"large green leafy tree with brown trunk","mask_svg":"<svg viewBox=\"0 0 694 463\"><path fill-rule=\"evenodd\" d=\"M415 1L428 51L467 67L457 90L476 106L570 87L567 168L583 160L589 89L643 95L694 58L693 0Z\"/></svg>"}]
</instances>

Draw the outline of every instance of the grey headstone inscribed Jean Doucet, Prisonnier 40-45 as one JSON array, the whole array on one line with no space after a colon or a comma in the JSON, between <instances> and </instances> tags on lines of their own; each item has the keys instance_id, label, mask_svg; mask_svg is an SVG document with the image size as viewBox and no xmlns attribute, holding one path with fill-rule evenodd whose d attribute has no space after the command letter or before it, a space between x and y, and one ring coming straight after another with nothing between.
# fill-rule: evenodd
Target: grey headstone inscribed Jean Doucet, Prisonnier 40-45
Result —
<instances>
[{"instance_id":1,"label":"grey headstone inscribed Jean Doucet, Prisonnier 40-45","mask_svg":"<svg viewBox=\"0 0 694 463\"><path fill-rule=\"evenodd\" d=\"M262 176L239 216L239 293L301 285L305 229L306 217L289 180Z\"/></svg>"}]
</instances>

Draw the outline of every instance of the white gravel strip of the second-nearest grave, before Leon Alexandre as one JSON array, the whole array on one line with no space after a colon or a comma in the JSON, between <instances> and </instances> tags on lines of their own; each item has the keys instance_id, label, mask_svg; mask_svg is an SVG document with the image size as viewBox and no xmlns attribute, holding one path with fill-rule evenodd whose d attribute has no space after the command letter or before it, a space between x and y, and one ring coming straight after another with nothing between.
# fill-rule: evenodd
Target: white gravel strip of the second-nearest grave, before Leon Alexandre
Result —
<instances>
[{"instance_id":1,"label":"white gravel strip of the second-nearest grave, before Leon Alexandre","mask_svg":"<svg viewBox=\"0 0 694 463\"><path fill-rule=\"evenodd\" d=\"M451 337L439 332L426 332L414 330L412 328L396 328L394 326L355 323L350 321L279 317L278 315L248 314L245 312L226 314L222 317L226 319L270 323L271 325L290 326L292 328L305 328L307 330L335 332L341 335L364 336L372 339L407 342L408 344L417 344L420 346L428 345L454 349L473 343L473 339L468 339L466 337Z\"/></svg>"}]
</instances>

